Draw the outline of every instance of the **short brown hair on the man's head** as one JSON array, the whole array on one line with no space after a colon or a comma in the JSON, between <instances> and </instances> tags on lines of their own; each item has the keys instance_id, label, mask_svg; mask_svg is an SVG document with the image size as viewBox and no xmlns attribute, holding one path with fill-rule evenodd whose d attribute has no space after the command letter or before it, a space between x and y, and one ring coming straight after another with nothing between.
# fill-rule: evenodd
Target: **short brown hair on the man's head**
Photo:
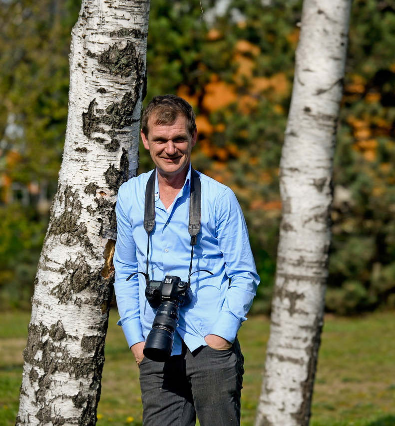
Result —
<instances>
[{"instance_id":1,"label":"short brown hair on the man's head","mask_svg":"<svg viewBox=\"0 0 395 426\"><path fill-rule=\"evenodd\" d=\"M148 120L155 117L154 124L172 124L179 115L187 119L188 131L192 133L196 129L195 113L192 106L182 97L176 95L154 96L144 109L141 117L141 130L148 136Z\"/></svg>"}]
</instances>

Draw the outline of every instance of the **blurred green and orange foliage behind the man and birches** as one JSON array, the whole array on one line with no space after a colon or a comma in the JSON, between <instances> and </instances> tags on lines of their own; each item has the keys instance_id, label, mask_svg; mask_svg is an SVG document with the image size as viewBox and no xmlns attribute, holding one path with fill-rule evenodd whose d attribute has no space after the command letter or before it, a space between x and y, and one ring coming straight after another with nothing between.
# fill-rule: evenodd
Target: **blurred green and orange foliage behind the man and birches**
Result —
<instances>
[{"instance_id":1,"label":"blurred green and orange foliage behind the man and birches","mask_svg":"<svg viewBox=\"0 0 395 426\"><path fill-rule=\"evenodd\" d=\"M28 307L56 189L76 0L1 0L0 305ZM147 101L195 108L193 164L230 186L269 313L281 200L278 164L301 1L152 0ZM354 0L338 130L327 311L395 307L395 1ZM152 168L140 149L139 172ZM237 248L235 248L237 249Z\"/></svg>"}]
</instances>

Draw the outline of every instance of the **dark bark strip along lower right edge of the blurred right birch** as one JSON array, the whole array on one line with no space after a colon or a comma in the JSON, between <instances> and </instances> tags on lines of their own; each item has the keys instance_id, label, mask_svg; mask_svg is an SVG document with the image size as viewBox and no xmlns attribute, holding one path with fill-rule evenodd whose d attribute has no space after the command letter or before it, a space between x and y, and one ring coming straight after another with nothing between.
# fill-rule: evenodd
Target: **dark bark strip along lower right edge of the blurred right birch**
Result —
<instances>
[{"instance_id":1,"label":"dark bark strip along lower right edge of the blurred right birch","mask_svg":"<svg viewBox=\"0 0 395 426\"><path fill-rule=\"evenodd\" d=\"M292 415L297 425L309 425L311 417L311 402L313 396L314 380L317 371L318 351L321 345L321 332L323 328L323 316L318 314L313 325L315 331L311 345L306 348L308 356L307 378L302 382L302 403L299 410Z\"/></svg>"}]
</instances>

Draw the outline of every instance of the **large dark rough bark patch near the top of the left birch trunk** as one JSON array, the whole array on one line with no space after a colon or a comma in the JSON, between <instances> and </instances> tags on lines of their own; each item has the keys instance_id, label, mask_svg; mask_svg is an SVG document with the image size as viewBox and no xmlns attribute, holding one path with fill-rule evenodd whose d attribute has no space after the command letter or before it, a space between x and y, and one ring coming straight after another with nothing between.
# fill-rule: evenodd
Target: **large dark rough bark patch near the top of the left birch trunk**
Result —
<instances>
[{"instance_id":1,"label":"large dark rough bark patch near the top of the left birch trunk","mask_svg":"<svg viewBox=\"0 0 395 426\"><path fill-rule=\"evenodd\" d=\"M98 55L97 61L111 74L121 77L129 77L138 69L136 49L130 40L126 42L124 48L119 48L116 44L110 46L108 50Z\"/></svg>"}]
</instances>

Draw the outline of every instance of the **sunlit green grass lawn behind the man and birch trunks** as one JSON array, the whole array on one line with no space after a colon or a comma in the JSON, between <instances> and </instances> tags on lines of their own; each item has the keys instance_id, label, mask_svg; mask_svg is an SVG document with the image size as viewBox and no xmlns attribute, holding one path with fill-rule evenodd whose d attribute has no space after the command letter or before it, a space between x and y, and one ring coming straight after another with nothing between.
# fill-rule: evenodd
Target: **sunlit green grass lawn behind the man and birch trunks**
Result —
<instances>
[{"instance_id":1,"label":"sunlit green grass lawn behind the man and birch trunks","mask_svg":"<svg viewBox=\"0 0 395 426\"><path fill-rule=\"evenodd\" d=\"M3 313L0 329L0 426L14 425L29 314ZM110 315L98 426L141 425L138 369ZM327 317L311 426L395 426L395 316ZM242 425L252 426L260 394L269 320L251 317L239 339L245 356Z\"/></svg>"}]
</instances>

